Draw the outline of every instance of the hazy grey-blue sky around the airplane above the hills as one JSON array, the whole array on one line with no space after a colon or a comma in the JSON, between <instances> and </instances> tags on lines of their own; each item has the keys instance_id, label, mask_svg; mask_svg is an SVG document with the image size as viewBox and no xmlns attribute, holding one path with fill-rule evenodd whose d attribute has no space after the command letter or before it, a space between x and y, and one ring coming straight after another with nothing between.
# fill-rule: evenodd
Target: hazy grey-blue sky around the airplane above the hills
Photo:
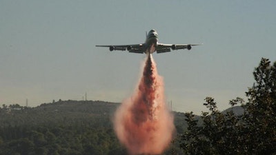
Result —
<instances>
[{"instance_id":1,"label":"hazy grey-blue sky around the airplane above the hills","mask_svg":"<svg viewBox=\"0 0 276 155\"><path fill-rule=\"evenodd\" d=\"M120 103L134 92L146 54L95 45L204 43L153 54L172 110L219 110L254 83L264 58L276 61L276 1L0 1L0 105L53 100Z\"/></svg>"}]
</instances>

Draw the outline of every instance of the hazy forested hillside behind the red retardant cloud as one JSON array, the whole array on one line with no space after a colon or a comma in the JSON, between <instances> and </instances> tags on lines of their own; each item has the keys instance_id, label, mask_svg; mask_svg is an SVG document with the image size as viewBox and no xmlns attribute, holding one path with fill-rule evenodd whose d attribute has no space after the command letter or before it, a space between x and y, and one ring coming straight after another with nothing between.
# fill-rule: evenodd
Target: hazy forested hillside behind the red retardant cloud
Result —
<instances>
[{"instance_id":1,"label":"hazy forested hillside behind the red retardant cloud","mask_svg":"<svg viewBox=\"0 0 276 155\"><path fill-rule=\"evenodd\" d=\"M103 101L2 105L0 154L127 154L112 128L118 105ZM175 113L175 124L178 132L185 130L183 113Z\"/></svg>"}]
</instances>

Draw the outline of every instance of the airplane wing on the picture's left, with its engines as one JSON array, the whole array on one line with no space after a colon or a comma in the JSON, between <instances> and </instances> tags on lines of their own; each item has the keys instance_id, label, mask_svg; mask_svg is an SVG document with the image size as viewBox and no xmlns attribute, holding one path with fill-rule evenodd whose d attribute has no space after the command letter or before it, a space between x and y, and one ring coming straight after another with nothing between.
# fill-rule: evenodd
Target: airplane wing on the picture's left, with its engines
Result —
<instances>
[{"instance_id":1,"label":"airplane wing on the picture's left, with its engines","mask_svg":"<svg viewBox=\"0 0 276 155\"><path fill-rule=\"evenodd\" d=\"M132 45L96 45L96 47L109 48L110 51L128 50L128 52L133 52L133 53L144 53L146 50L144 43L132 44Z\"/></svg>"}]
</instances>

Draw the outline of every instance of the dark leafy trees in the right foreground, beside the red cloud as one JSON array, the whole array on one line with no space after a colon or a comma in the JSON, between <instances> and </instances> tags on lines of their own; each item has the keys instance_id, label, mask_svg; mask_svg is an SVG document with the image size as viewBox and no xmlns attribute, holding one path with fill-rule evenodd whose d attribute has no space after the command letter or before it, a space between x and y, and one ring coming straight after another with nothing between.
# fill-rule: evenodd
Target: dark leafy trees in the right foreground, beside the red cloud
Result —
<instances>
[{"instance_id":1,"label":"dark leafy trees in the right foreground, beside the red cloud","mask_svg":"<svg viewBox=\"0 0 276 155\"><path fill-rule=\"evenodd\" d=\"M256 83L246 92L248 102L229 102L242 105L242 115L219 112L211 97L205 99L209 112L202 112L202 124L193 112L186 114L188 131L179 138L184 154L276 154L276 62L262 59L253 75Z\"/></svg>"}]
</instances>

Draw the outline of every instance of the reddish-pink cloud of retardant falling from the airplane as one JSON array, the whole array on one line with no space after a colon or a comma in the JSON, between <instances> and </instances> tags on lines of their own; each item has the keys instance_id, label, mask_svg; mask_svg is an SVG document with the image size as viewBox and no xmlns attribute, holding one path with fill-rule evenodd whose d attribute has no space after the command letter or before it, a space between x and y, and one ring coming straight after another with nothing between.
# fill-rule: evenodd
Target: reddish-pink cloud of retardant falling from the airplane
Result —
<instances>
[{"instance_id":1,"label":"reddish-pink cloud of retardant falling from the airplane","mask_svg":"<svg viewBox=\"0 0 276 155\"><path fill-rule=\"evenodd\" d=\"M170 145L175 126L152 54L144 62L136 90L115 112L114 128L131 155L161 154Z\"/></svg>"}]
</instances>

